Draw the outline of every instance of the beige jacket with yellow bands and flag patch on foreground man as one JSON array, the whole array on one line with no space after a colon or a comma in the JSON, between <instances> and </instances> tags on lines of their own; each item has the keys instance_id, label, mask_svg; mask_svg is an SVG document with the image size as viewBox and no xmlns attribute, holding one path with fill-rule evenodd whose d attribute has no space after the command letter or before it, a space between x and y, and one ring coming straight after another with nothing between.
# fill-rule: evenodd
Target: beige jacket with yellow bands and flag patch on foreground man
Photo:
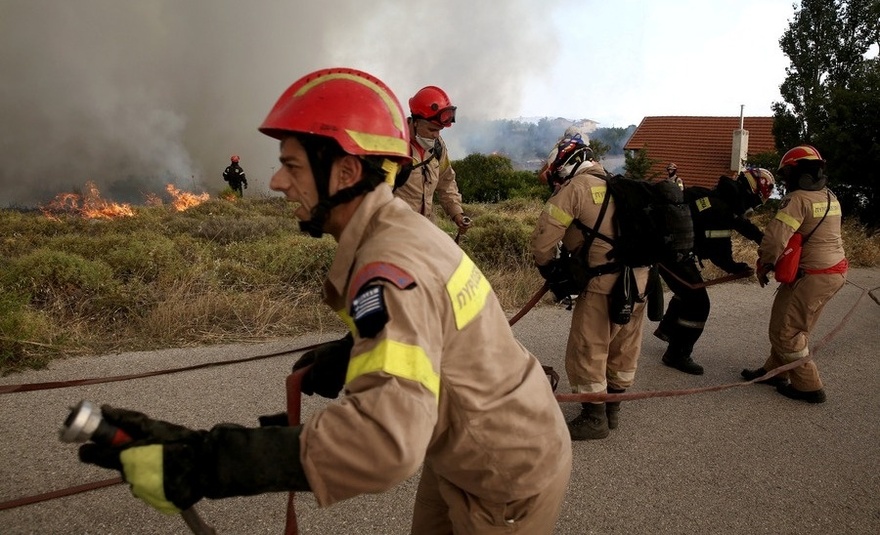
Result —
<instances>
[{"instance_id":1,"label":"beige jacket with yellow bands and flag patch on foreground man","mask_svg":"<svg viewBox=\"0 0 880 535\"><path fill-rule=\"evenodd\" d=\"M352 319L359 295L387 311L373 337ZM549 381L488 281L387 185L366 195L340 236L325 300L355 344L345 396L312 416L300 439L319 505L387 490L422 462L468 493L506 502L537 494L569 462Z\"/></svg>"}]
</instances>

